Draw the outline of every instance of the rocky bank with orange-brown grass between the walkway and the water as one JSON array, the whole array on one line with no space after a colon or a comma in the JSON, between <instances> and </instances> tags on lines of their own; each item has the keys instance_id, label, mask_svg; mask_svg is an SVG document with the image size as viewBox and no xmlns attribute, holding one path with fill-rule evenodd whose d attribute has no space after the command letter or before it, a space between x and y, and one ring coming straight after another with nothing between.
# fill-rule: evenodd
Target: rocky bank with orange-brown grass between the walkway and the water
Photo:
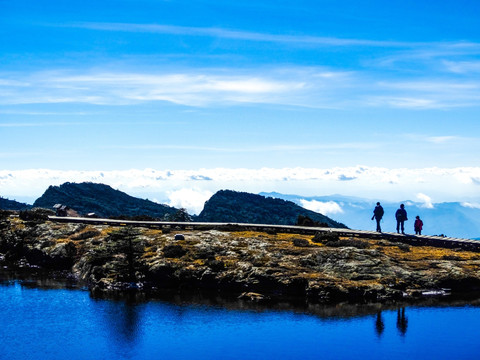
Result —
<instances>
[{"instance_id":1,"label":"rocky bank with orange-brown grass between the walkway and the water","mask_svg":"<svg viewBox=\"0 0 480 360\"><path fill-rule=\"evenodd\" d=\"M130 229L5 217L5 264L68 270L92 289L204 289L252 301L379 301L480 290L480 254L387 240Z\"/></svg>"}]
</instances>

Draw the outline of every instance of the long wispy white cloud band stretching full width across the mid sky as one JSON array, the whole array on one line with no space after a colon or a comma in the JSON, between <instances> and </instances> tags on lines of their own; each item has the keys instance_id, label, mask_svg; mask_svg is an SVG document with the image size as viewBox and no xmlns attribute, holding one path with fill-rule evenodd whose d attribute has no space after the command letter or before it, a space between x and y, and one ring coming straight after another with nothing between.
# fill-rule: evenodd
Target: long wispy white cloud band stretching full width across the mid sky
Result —
<instances>
[{"instance_id":1,"label":"long wispy white cloud band stretching full width across the mid sky","mask_svg":"<svg viewBox=\"0 0 480 360\"><path fill-rule=\"evenodd\" d=\"M189 70L172 73L45 71L4 73L22 86L0 84L0 105L170 102L190 107L279 104L308 108L444 109L478 106L470 80L372 81L370 75L326 68ZM25 86L23 84L28 84Z\"/></svg>"}]
</instances>

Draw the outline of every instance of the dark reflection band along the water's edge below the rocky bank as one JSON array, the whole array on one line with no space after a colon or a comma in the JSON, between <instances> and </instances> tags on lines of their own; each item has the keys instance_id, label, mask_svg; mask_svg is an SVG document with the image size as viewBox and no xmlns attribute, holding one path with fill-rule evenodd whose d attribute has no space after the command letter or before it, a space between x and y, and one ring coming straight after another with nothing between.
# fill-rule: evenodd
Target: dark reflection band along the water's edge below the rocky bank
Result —
<instances>
[{"instance_id":1,"label":"dark reflection band along the water's edge below the rocky bank","mask_svg":"<svg viewBox=\"0 0 480 360\"><path fill-rule=\"evenodd\" d=\"M32 274L25 268L5 269L0 271L0 286L14 286L42 290L73 290L85 291L96 300L122 301L127 304L143 304L146 302L168 302L179 306L207 306L231 311L255 312L292 312L296 314L313 315L323 319L350 319L358 316L377 316L384 311L397 311L401 308L443 308L443 307L480 307L480 293L463 294L463 296L432 296L410 298L400 301L383 302L334 302L311 303L305 299L275 299L268 301L250 301L233 294L219 294L199 289L180 291L170 289L160 292L145 291L94 291L72 281L65 272L52 274L40 269L41 274ZM468 295L468 296L465 296Z\"/></svg>"}]
</instances>

